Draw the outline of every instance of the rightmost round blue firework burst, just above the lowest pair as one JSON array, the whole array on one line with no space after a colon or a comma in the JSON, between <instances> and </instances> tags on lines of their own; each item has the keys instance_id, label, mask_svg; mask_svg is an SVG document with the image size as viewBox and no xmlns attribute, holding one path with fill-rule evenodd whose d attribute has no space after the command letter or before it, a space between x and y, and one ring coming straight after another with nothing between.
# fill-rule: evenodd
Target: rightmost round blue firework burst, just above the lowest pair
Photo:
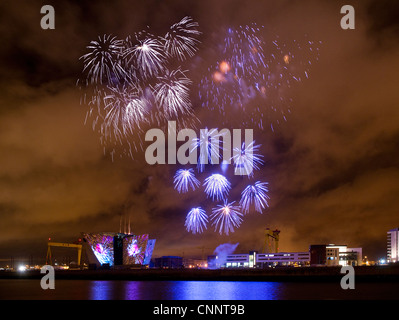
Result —
<instances>
[{"instance_id":1,"label":"rightmost round blue firework burst, just above the lowest pair","mask_svg":"<svg viewBox=\"0 0 399 320\"><path fill-rule=\"evenodd\" d=\"M241 193L240 205L245 214L249 212L252 204L255 206L255 211L259 213L262 213L263 209L269 206L267 184L267 182L256 181L253 185L248 185Z\"/></svg>"}]
</instances>

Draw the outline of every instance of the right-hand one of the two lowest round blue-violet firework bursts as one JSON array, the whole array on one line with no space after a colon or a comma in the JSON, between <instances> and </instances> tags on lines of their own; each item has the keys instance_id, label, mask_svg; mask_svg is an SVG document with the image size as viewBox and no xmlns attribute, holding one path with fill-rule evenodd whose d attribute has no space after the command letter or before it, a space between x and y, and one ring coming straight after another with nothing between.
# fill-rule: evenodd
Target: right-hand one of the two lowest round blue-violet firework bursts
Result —
<instances>
[{"instance_id":1,"label":"right-hand one of the two lowest round blue-violet firework bursts","mask_svg":"<svg viewBox=\"0 0 399 320\"><path fill-rule=\"evenodd\" d=\"M212 209L211 220L212 225L215 225L215 232L218 230L220 234L229 235L229 232L234 232L234 228L238 228L242 222L241 207L235 206L234 201L224 205L217 205Z\"/></svg>"}]
</instances>

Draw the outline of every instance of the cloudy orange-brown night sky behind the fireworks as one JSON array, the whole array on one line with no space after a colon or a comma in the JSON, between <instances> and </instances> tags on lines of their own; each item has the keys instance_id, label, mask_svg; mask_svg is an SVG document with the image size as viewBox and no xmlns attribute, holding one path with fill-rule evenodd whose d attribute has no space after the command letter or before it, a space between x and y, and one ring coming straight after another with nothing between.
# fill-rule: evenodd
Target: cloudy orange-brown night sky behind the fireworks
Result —
<instances>
[{"instance_id":1,"label":"cloudy orange-brown night sky behind the fireworks","mask_svg":"<svg viewBox=\"0 0 399 320\"><path fill-rule=\"evenodd\" d=\"M40 27L44 4L55 8L55 30ZM345 4L356 10L355 30L340 27ZM398 12L394 1L2 1L0 262L44 260L49 237L118 232L129 216L132 232L157 239L154 256L200 257L202 247L212 254L227 242L239 243L237 253L261 250L270 227L281 230L280 251L335 243L385 257L386 232L399 226ZM185 230L188 209L205 196L173 189L178 165L104 152L76 86L79 57L97 36L146 26L165 33L187 15L202 32L188 73L201 128L218 122L195 90L221 29L256 22L281 41L321 41L309 79L284 92L292 98L287 121L253 128L269 208L245 216L229 236L211 226L200 235ZM239 195L246 181L232 179Z\"/></svg>"}]
</instances>

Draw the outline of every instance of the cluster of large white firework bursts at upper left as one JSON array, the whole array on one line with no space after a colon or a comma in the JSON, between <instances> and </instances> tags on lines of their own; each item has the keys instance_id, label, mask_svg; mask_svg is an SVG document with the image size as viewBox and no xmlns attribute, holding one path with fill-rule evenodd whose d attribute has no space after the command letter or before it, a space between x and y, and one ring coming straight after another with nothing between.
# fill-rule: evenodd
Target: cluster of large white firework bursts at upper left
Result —
<instances>
[{"instance_id":1,"label":"cluster of large white firework bursts at upper left","mask_svg":"<svg viewBox=\"0 0 399 320\"><path fill-rule=\"evenodd\" d=\"M104 148L114 153L121 146L121 154L133 157L142 148L145 127L196 121L191 81L176 61L183 63L196 53L197 28L192 18L184 17L164 36L143 30L126 39L103 35L90 42L89 52L81 57L78 86L84 92L82 103L89 107L86 121L92 119Z\"/></svg>"}]
</instances>

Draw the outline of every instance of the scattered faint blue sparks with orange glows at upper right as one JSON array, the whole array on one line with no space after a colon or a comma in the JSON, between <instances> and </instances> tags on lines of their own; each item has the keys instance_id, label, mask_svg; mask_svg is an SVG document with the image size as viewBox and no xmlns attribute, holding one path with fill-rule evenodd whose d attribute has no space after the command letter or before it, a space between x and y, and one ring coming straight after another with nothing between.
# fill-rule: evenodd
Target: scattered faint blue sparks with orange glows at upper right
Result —
<instances>
[{"instance_id":1,"label":"scattered faint blue sparks with orange glows at upper right","mask_svg":"<svg viewBox=\"0 0 399 320\"><path fill-rule=\"evenodd\" d=\"M199 84L201 105L219 113L224 124L279 124L291 112L291 87L309 77L319 42L284 43L263 26L228 28L216 63Z\"/></svg>"}]
</instances>

